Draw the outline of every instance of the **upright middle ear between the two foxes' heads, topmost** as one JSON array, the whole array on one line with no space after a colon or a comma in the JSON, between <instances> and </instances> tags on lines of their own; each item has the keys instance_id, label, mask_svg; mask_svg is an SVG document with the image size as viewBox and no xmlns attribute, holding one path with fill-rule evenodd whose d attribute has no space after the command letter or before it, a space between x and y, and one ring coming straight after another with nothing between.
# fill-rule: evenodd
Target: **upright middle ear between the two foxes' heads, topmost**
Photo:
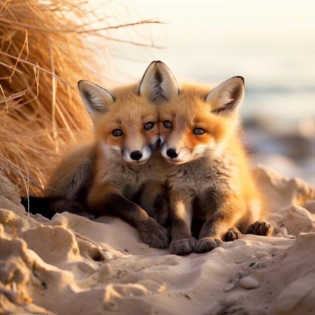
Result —
<instances>
[{"instance_id":1,"label":"upright middle ear between the two foxes' heads, topmost","mask_svg":"<svg viewBox=\"0 0 315 315\"><path fill-rule=\"evenodd\" d=\"M170 101L179 93L173 73L162 61L153 61L146 69L139 86L139 95L157 105Z\"/></svg>"}]
</instances>

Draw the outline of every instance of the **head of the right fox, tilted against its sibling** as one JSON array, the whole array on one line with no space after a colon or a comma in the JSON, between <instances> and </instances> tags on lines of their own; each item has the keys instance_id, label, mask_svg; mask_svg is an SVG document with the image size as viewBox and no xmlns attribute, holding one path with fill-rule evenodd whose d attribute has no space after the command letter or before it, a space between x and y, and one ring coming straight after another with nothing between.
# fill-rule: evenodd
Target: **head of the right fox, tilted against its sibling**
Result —
<instances>
[{"instance_id":1,"label":"head of the right fox, tilted against its sibling","mask_svg":"<svg viewBox=\"0 0 315 315\"><path fill-rule=\"evenodd\" d=\"M244 78L231 77L212 91L192 84L179 90L175 83L175 96L159 107L163 157L171 164L182 164L220 153L238 125Z\"/></svg>"}]
</instances>

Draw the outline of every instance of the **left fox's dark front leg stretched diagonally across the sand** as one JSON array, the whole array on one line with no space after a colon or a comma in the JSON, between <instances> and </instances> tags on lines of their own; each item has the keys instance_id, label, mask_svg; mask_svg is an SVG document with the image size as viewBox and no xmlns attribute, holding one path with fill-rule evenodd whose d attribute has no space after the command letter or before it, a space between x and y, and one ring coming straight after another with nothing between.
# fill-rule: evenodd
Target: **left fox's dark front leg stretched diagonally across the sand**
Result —
<instances>
[{"instance_id":1,"label":"left fox's dark front leg stretched diagonally across the sand","mask_svg":"<svg viewBox=\"0 0 315 315\"><path fill-rule=\"evenodd\" d=\"M92 187L88 195L88 208L92 213L115 214L132 226L136 227L139 238L144 243L158 248L167 248L169 235L166 229L149 217L136 203L122 196L111 185L98 185Z\"/></svg>"}]
</instances>

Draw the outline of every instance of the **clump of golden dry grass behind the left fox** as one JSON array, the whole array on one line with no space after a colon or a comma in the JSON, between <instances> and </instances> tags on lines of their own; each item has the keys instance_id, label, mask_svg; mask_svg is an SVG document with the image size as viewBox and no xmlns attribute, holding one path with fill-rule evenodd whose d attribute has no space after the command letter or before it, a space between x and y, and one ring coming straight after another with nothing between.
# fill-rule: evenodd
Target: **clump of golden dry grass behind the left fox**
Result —
<instances>
[{"instance_id":1,"label":"clump of golden dry grass behind the left fox","mask_svg":"<svg viewBox=\"0 0 315 315\"><path fill-rule=\"evenodd\" d=\"M24 195L25 187L40 194L63 151L90 137L76 82L104 83L98 69L108 65L87 39L98 37L104 49L104 30L130 24L111 26L82 0L7 0L0 8L0 171Z\"/></svg>"}]
</instances>

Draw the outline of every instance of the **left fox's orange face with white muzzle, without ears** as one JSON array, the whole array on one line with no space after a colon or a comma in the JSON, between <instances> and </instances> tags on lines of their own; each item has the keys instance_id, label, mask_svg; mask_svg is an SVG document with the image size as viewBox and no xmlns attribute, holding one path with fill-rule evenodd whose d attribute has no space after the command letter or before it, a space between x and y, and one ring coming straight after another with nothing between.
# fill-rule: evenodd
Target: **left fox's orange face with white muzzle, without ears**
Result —
<instances>
[{"instance_id":1,"label":"left fox's orange face with white muzzle, without ears","mask_svg":"<svg viewBox=\"0 0 315 315\"><path fill-rule=\"evenodd\" d=\"M95 122L99 146L107 160L144 164L159 144L156 108L136 95L117 98L115 103L116 108Z\"/></svg>"}]
</instances>

